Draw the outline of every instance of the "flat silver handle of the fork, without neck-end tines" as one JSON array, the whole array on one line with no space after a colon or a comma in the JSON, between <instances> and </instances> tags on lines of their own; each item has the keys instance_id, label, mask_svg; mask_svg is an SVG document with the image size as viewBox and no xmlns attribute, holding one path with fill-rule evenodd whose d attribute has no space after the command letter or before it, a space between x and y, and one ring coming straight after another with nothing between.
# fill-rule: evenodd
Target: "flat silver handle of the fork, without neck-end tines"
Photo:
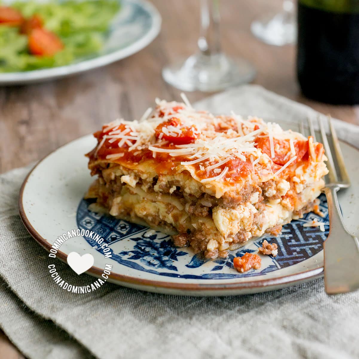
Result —
<instances>
[{"instance_id":1,"label":"flat silver handle of the fork, without neck-end tines","mask_svg":"<svg viewBox=\"0 0 359 359\"><path fill-rule=\"evenodd\" d=\"M339 187L324 188L330 229L324 242L324 280L328 294L351 292L359 288L359 241L345 228L339 207Z\"/></svg>"}]
</instances>

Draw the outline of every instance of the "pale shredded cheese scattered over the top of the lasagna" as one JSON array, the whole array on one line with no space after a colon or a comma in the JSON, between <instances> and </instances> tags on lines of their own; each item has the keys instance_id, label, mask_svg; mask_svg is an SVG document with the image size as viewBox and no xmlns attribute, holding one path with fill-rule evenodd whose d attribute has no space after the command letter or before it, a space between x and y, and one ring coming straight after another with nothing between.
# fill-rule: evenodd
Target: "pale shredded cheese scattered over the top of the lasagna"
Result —
<instances>
[{"instance_id":1,"label":"pale shredded cheese scattered over the top of the lasagna","mask_svg":"<svg viewBox=\"0 0 359 359\"><path fill-rule=\"evenodd\" d=\"M233 168L228 173L230 166L226 165L223 171L222 166L232 160L239 159L246 162L250 159L255 171L256 164L262 164L264 161L263 152L255 143L257 137L269 138L271 158L275 157L276 150L280 150L280 143L274 145L274 138L279 141L289 139L290 151L285 156L287 162L274 176L281 173L297 158L294 143L296 139L301 138L297 132L284 131L278 124L273 122L266 124L256 117L243 120L233 111L231 116L214 116L206 111L195 111L186 95L182 93L181 97L183 103L166 102L157 98L156 108L146 109L139 121L117 119L105 125L103 137L95 149L95 157L105 143L107 146L114 144L113 147L109 146L111 149L118 147L122 150L121 154L108 155L108 159L122 157L123 149L136 155L141 155L143 150L150 150L153 158L156 158L157 153L168 154L173 161L179 157L178 162L182 166L198 164L200 171L207 177L210 176L211 171L218 173L218 176L204 178L204 182L220 180L226 174L230 177L230 174L235 173L238 168ZM175 122L166 123L174 117ZM190 129L194 134L194 139L189 144L176 144L168 139L168 137L180 137L184 133L183 129L186 131ZM164 141L163 136L168 140ZM315 156L311 137L309 137L309 154L311 157ZM248 181L252 181L252 178L248 178Z\"/></svg>"}]
</instances>

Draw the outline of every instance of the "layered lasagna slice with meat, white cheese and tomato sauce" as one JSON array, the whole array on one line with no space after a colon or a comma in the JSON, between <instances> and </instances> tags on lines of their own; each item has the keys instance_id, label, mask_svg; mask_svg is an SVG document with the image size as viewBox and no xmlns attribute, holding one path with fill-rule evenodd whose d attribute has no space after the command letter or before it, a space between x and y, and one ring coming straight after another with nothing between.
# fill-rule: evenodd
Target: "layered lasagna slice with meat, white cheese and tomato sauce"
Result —
<instances>
[{"instance_id":1,"label":"layered lasagna slice with meat, white cheese and tomato sauce","mask_svg":"<svg viewBox=\"0 0 359 359\"><path fill-rule=\"evenodd\" d=\"M186 99L185 99L186 100ZM156 101L140 121L95 132L91 209L170 234L207 258L318 210L323 145L276 123Z\"/></svg>"}]
</instances>

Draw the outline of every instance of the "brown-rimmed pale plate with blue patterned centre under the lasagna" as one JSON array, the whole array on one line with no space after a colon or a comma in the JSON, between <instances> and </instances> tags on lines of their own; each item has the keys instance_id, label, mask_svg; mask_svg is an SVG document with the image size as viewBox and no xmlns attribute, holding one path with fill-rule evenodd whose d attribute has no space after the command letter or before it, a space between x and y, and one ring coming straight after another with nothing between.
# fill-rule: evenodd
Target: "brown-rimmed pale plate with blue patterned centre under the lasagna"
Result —
<instances>
[{"instance_id":1,"label":"brown-rimmed pale plate with blue patterned centre under the lasagna","mask_svg":"<svg viewBox=\"0 0 359 359\"><path fill-rule=\"evenodd\" d=\"M290 125L279 122L284 128ZM257 252L263 238L237 251L228 259L204 261L190 248L176 248L160 232L88 210L83 200L93 178L87 168L87 153L96 144L92 135L81 137L48 155L29 173L19 197L21 218L36 241L50 250L53 241L67 230L80 228L99 234L111 249L111 258L89 237L76 237L62 244L58 257L66 261L70 252L91 253L94 266L87 272L101 275L111 262L111 282L151 292L185 295L236 295L279 289L318 278L323 274L325 232L318 227L303 227L292 221L271 242L278 244L278 256L262 256L262 268L243 274L233 269L233 258L245 252ZM359 151L341 143L352 179L359 178L356 164ZM71 160L69 160L71 159ZM359 202L359 186L340 191L339 201L349 230L356 228L354 204ZM305 219L318 218L328 223L325 196L321 208L325 218L309 213Z\"/></svg>"}]
</instances>

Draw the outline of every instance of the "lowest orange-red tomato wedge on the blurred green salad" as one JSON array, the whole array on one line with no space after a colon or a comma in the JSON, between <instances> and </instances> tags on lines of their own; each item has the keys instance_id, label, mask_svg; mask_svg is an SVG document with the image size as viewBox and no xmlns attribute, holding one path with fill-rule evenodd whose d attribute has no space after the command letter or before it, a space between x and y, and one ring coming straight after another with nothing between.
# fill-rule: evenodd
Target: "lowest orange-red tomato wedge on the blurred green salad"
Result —
<instances>
[{"instance_id":1,"label":"lowest orange-red tomato wedge on the blurred green salad","mask_svg":"<svg viewBox=\"0 0 359 359\"><path fill-rule=\"evenodd\" d=\"M45 29L32 29L29 33L29 51L33 55L53 56L62 50L61 40Z\"/></svg>"}]
</instances>

